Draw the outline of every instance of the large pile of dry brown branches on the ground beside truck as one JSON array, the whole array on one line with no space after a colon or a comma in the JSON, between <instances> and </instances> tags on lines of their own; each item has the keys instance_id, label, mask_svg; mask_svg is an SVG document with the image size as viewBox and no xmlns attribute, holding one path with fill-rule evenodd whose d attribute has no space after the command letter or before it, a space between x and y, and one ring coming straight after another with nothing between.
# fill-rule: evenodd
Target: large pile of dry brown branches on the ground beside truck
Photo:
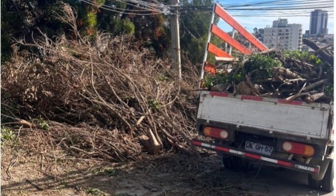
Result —
<instances>
[{"instance_id":1,"label":"large pile of dry brown branches on the ground beside truck","mask_svg":"<svg viewBox=\"0 0 336 196\"><path fill-rule=\"evenodd\" d=\"M124 161L142 152L190 150L197 69L185 68L175 80L168 61L130 37L82 37L76 12L62 6L56 18L73 28L71 38L42 33L34 43L20 40L33 52L14 53L1 66L2 124L18 123L12 128L21 134L39 131L87 158Z\"/></svg>"}]
</instances>

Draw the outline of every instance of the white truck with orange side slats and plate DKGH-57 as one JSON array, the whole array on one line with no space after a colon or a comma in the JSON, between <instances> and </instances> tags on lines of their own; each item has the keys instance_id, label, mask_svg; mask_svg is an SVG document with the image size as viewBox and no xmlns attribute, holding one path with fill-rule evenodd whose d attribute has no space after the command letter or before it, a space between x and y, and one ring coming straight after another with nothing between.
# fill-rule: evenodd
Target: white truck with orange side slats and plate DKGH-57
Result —
<instances>
[{"instance_id":1,"label":"white truck with orange side slats and plate DKGH-57","mask_svg":"<svg viewBox=\"0 0 336 196\"><path fill-rule=\"evenodd\" d=\"M216 4L212 15L217 14L240 32L239 24L232 17L225 18L230 16L224 12ZM213 19L201 79L208 51L219 59L232 58L224 51L209 48L210 34L215 33L212 23ZM244 32L240 33L244 35ZM233 47L236 44L232 40L224 41ZM307 104L297 100L287 102L278 98L233 96L200 88L196 127L201 135L212 140L195 139L192 143L217 151L223 157L225 168L244 170L253 162L263 162L264 165L306 172L311 187L332 192L333 120L332 103Z\"/></svg>"}]
</instances>

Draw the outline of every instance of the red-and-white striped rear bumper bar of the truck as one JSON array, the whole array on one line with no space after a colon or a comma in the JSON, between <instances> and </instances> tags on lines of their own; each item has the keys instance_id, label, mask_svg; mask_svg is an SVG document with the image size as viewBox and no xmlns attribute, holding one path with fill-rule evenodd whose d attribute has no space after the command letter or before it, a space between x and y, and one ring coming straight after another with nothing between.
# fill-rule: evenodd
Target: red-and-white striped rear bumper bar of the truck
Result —
<instances>
[{"instance_id":1,"label":"red-and-white striped rear bumper bar of the truck","mask_svg":"<svg viewBox=\"0 0 336 196\"><path fill-rule=\"evenodd\" d=\"M226 154L231 154L234 156L239 156L239 157L243 157L243 158L254 160L254 161L263 161L271 165L288 168L288 169L296 170L300 172L318 174L320 170L320 166L317 166L317 165L305 164L305 163L301 163L297 161L289 161L286 159L280 159L280 158L267 156L267 155L254 154L246 150L237 149L234 147L226 147L220 144L205 142L202 140L194 139L192 143L193 145L197 147L202 147L205 149L214 150L218 152L224 152Z\"/></svg>"}]
</instances>

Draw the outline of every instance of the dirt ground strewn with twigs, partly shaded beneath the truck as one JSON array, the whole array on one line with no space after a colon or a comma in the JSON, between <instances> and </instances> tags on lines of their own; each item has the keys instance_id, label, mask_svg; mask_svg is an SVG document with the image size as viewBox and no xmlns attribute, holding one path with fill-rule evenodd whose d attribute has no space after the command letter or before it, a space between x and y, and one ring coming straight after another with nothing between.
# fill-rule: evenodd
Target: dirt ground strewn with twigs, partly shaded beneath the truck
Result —
<instances>
[{"instance_id":1,"label":"dirt ground strewn with twigs, partly shaded beneath the truck","mask_svg":"<svg viewBox=\"0 0 336 196\"><path fill-rule=\"evenodd\" d=\"M48 153L47 153L48 154ZM332 196L308 187L305 173L255 165L224 169L215 154L168 153L111 164L2 149L2 196ZM53 156L53 153L50 153ZM49 159L48 159L49 160ZM53 159L50 159L53 160ZM55 160L55 159L54 159Z\"/></svg>"}]
</instances>

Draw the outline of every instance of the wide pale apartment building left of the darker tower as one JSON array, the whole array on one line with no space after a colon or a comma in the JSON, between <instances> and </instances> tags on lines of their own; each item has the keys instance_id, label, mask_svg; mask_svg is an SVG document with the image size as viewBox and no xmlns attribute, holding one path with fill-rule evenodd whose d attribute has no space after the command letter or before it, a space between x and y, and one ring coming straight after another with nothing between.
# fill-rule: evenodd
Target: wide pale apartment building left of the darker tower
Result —
<instances>
[{"instance_id":1,"label":"wide pale apartment building left of the darker tower","mask_svg":"<svg viewBox=\"0 0 336 196\"><path fill-rule=\"evenodd\" d=\"M288 24L287 19L273 21L272 27L264 28L263 43L268 48L301 50L302 25Z\"/></svg>"}]
</instances>

